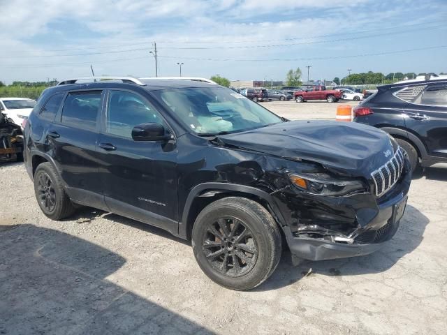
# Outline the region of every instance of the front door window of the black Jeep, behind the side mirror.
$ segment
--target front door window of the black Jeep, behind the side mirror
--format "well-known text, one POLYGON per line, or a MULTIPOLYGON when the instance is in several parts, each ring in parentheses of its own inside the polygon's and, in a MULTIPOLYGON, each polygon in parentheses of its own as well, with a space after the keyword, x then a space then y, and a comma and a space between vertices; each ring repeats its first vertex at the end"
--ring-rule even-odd
POLYGON ((110 91, 105 117, 107 133, 132 138, 133 127, 151 122, 165 124, 145 99, 127 91, 110 91))

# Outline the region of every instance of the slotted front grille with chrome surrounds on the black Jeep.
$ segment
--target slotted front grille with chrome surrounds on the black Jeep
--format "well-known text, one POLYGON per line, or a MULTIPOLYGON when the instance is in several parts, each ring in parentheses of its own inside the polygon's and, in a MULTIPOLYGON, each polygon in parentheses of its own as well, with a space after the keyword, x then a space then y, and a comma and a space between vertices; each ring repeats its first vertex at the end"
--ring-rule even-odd
POLYGON ((374 185, 376 186, 376 195, 378 197, 389 191, 390 188, 396 184, 402 174, 403 168, 404 153, 400 147, 397 147, 393 158, 371 173, 374 185))

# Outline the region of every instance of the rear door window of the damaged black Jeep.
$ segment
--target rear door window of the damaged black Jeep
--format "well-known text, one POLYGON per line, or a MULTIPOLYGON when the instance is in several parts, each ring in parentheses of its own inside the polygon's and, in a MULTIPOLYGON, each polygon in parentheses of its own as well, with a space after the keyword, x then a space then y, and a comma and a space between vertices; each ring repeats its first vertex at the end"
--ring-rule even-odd
POLYGON ((62 124, 94 130, 101 104, 101 91, 70 92, 62 109, 62 124))

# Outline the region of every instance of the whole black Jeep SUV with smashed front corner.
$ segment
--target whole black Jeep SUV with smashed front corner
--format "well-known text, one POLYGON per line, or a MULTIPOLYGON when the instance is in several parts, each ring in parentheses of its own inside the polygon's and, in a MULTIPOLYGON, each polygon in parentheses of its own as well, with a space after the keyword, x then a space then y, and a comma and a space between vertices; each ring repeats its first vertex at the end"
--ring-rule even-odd
POLYGON ((78 204, 192 239, 205 274, 248 290, 291 253, 372 253, 397 230, 411 173, 383 131, 288 121, 216 84, 67 80, 46 89, 24 131, 43 213, 78 204))

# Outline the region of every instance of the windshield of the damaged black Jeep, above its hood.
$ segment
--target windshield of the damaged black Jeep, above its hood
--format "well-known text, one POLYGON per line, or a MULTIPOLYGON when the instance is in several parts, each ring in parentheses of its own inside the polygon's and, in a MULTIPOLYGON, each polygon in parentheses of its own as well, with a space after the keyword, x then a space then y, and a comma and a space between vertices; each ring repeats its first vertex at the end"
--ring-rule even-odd
POLYGON ((237 133, 282 121, 242 94, 223 87, 163 89, 152 93, 199 135, 237 133))

